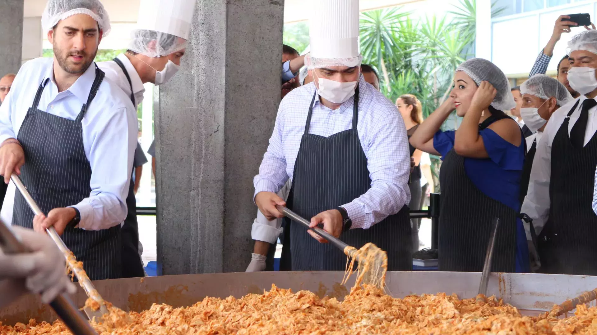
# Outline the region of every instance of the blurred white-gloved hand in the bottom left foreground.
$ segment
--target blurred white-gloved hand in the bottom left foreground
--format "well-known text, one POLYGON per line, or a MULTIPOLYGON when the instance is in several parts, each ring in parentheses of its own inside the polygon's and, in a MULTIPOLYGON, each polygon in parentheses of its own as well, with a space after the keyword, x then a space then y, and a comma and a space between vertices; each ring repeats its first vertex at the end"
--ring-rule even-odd
MULTIPOLYGON (((31 229, 11 227, 31 253, 5 255, 0 252, 0 280, 24 279, 25 287, 41 294, 43 303, 50 303, 59 294, 76 293, 75 284, 66 275, 66 262, 48 235, 31 229)), ((2 293, 0 293, 2 294, 2 293)))

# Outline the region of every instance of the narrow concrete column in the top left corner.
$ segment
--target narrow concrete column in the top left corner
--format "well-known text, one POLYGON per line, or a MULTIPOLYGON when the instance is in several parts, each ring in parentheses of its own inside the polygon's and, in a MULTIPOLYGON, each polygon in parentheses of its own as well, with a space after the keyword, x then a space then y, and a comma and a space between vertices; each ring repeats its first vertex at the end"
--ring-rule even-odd
POLYGON ((21 67, 23 5, 23 0, 0 0, 0 77, 21 67))

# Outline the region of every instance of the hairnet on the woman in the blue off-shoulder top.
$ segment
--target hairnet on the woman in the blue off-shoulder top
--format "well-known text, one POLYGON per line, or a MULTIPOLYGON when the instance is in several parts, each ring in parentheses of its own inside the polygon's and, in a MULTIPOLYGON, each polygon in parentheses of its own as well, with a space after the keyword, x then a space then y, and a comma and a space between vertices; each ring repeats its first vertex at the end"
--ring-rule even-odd
POLYGON ((511 110, 516 107, 514 97, 510 91, 510 82, 496 64, 483 58, 470 58, 470 60, 457 67, 456 72, 458 71, 466 73, 470 79, 475 81, 477 86, 481 85, 483 81, 493 85, 497 90, 497 94, 491 106, 497 110, 511 110))

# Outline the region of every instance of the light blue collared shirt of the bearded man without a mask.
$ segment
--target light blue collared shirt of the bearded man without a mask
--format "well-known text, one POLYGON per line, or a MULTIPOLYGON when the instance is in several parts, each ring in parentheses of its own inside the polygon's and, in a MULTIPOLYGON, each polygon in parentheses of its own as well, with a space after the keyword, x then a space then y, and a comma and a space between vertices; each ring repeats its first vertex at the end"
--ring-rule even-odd
MULTIPOLYGON (((41 95, 38 109, 75 120, 81 111, 96 77, 90 67, 66 91, 58 92, 54 82, 53 58, 36 58, 21 66, 10 95, 0 106, 0 143, 17 138, 19 129, 32 107, 39 84, 50 78, 41 95)), ((96 97, 81 121, 85 156, 91 166, 91 193, 73 207, 81 213, 79 228, 99 230, 120 224, 127 217, 128 187, 137 146, 136 113, 127 97, 115 83, 104 78, 96 97)), ((7 191, 14 190, 14 187, 7 191)), ((14 191, 13 191, 14 194, 14 191)), ((2 206, 2 218, 12 218, 13 197, 2 206), (9 212, 9 213, 6 213, 9 212)))

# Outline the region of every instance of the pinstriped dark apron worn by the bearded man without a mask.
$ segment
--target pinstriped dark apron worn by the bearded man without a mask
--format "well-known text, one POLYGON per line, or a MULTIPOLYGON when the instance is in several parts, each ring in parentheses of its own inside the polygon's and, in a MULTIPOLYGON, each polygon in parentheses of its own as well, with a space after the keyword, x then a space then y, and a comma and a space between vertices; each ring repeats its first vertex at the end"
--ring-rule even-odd
MULTIPOLYGON (((46 215, 50 210, 72 206, 91 193, 91 166, 85 156, 81 121, 96 96, 104 73, 96 66, 96 79, 87 103, 76 120, 65 119, 39 110, 38 104, 46 79, 39 85, 32 107, 27 111, 19 131, 25 153, 21 179, 46 215)), ((13 224, 33 228, 33 212, 17 190, 14 198, 13 224)), ((120 225, 97 231, 66 227, 62 240, 83 262, 91 280, 120 278, 120 225)))

